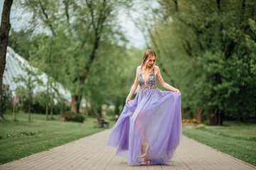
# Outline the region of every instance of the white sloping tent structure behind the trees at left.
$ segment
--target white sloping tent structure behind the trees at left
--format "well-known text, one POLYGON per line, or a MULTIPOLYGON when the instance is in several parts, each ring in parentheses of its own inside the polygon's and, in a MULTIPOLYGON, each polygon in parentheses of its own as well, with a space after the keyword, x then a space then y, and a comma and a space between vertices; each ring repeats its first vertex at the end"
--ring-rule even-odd
MULTIPOLYGON (((31 70, 35 70, 35 72, 38 70, 36 67, 32 67, 29 65, 28 60, 24 59, 20 55, 18 55, 11 47, 7 47, 6 52, 6 69, 4 71, 4 79, 3 84, 8 84, 10 86, 10 89, 13 94, 15 94, 15 89, 17 86, 22 86, 23 84, 16 83, 13 81, 14 77, 18 77, 19 74, 22 74, 23 76, 26 76, 26 72, 24 71, 23 67, 27 67, 31 70)), ((48 81, 48 75, 46 73, 41 74, 39 77, 43 81, 43 84, 46 84, 48 81)), ((60 93, 60 96, 63 96, 68 101, 70 101, 70 91, 67 91, 63 88, 63 86, 59 83, 56 83, 58 86, 58 91, 60 93)), ((36 89, 33 89, 34 92, 37 91, 45 91, 46 87, 44 86, 37 86, 36 89)))

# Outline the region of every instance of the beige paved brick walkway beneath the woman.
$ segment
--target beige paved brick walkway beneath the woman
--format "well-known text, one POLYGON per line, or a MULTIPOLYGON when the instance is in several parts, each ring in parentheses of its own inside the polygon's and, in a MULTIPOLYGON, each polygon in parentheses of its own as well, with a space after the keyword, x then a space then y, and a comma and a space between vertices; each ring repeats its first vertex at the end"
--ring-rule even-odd
POLYGON ((176 157, 172 159, 171 164, 129 166, 127 159, 114 155, 114 147, 107 147, 110 132, 111 129, 105 130, 48 151, 3 164, 0 169, 256 169, 256 166, 218 152, 185 136, 177 147, 176 157))

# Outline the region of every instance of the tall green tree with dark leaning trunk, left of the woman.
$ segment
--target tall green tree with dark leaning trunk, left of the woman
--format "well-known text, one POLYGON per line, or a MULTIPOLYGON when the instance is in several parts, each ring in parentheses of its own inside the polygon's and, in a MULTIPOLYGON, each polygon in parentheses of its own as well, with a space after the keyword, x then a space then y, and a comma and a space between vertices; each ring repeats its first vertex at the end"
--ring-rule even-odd
POLYGON ((124 40, 115 13, 127 4, 127 1, 100 0, 18 1, 16 4, 33 13, 33 24, 50 30, 50 35, 36 35, 30 60, 70 89, 75 113, 79 112, 85 81, 100 54, 100 45, 124 40))

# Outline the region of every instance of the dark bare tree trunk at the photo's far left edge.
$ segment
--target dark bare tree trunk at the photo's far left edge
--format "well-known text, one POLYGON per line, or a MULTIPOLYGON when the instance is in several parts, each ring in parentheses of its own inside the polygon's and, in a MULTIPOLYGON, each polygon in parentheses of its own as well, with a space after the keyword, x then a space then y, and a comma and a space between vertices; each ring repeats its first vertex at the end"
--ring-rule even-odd
POLYGON ((9 39, 10 24, 10 12, 11 4, 13 0, 5 0, 3 12, 1 16, 1 27, 0 27, 0 120, 4 120, 4 115, 1 112, 1 89, 3 84, 4 68, 6 64, 6 49, 9 39))

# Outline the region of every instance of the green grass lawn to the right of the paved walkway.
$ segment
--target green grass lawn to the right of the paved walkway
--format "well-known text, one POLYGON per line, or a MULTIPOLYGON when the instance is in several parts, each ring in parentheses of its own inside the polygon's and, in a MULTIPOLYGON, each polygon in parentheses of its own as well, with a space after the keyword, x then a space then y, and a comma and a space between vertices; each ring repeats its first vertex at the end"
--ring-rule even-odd
POLYGON ((183 124, 183 135, 256 166, 256 123, 224 121, 206 128, 183 124))

